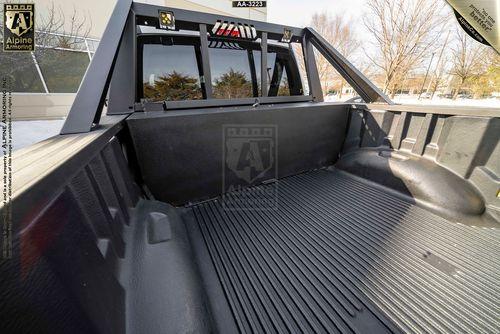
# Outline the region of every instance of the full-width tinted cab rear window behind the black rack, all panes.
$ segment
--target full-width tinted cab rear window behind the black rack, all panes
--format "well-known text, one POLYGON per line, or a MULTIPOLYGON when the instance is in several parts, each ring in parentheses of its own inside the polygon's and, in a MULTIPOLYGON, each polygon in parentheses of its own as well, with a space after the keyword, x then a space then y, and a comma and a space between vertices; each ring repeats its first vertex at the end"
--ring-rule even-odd
MULTIPOLYGON (((139 43, 142 57, 141 97, 150 101, 206 99, 210 84, 214 99, 262 96, 261 51, 258 42, 210 40, 211 82, 205 82, 199 38, 147 36, 139 43)), ((267 96, 303 95, 291 51, 268 46, 267 96)))

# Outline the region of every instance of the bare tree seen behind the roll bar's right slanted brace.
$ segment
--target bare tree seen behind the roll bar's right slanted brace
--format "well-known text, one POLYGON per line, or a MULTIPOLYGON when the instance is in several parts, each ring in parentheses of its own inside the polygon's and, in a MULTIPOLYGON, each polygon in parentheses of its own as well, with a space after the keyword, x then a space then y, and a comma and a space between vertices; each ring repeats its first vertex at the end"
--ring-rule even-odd
MULTIPOLYGON (((332 17, 328 13, 315 13, 311 18, 310 26, 318 31, 321 36, 344 56, 352 55, 361 45, 360 40, 352 29, 354 22, 345 18, 345 16, 336 15, 332 17)), ((340 80, 341 96, 344 80, 319 52, 316 52, 315 56, 323 92, 328 92, 329 83, 337 79, 340 80)))

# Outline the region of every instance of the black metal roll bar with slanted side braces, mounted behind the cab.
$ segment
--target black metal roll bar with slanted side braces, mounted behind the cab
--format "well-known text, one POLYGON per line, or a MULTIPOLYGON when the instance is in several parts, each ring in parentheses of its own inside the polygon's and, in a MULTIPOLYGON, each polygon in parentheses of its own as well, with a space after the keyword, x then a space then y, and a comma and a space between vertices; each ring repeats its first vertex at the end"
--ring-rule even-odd
MULTIPOLYGON (((135 3, 132 0, 118 0, 99 46, 80 84, 61 134, 89 132, 98 127, 107 97, 109 100, 108 115, 134 112, 138 102, 136 95, 138 80, 136 70, 137 26, 157 26, 159 10, 172 11, 178 29, 200 31, 205 82, 211 82, 207 26, 213 25, 217 20, 237 21, 238 23, 253 25, 256 29, 257 36, 261 41, 262 71, 265 71, 267 67, 267 41, 269 39, 280 40, 284 29, 287 29, 293 34, 291 41, 302 44, 311 95, 306 97, 279 97, 279 102, 287 102, 287 99, 290 100, 289 102, 298 100, 323 101, 323 92, 314 57, 313 47, 315 47, 365 102, 392 104, 392 101, 384 93, 312 28, 301 29, 267 22, 135 3)), ((267 75, 261 75, 261 80, 261 87, 267 87, 267 75)), ((206 86, 210 87, 209 84, 206 86)), ((212 94, 209 88, 207 89, 207 105, 213 104, 211 97, 212 94)), ((272 102, 274 98, 267 97, 265 89, 263 89, 261 100, 272 102)), ((254 99, 240 99, 236 101, 236 104, 248 103, 251 105, 253 104, 252 101, 254 99)))

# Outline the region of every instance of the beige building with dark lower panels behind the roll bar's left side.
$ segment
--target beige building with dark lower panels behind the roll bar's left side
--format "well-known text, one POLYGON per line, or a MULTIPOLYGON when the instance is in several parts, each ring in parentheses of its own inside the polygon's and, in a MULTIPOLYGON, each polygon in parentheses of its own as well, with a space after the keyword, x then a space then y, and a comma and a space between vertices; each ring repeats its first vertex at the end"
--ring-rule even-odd
MULTIPOLYGON (((141 2, 259 21, 267 19, 266 8, 232 8, 230 0, 141 2)), ((66 116, 115 3, 113 0, 35 0, 36 29, 47 28, 51 33, 38 32, 40 38, 34 53, 6 54, 0 51, 0 76, 15 78, 14 120, 66 116), (56 19, 48 24, 47 18, 51 14, 56 19)))

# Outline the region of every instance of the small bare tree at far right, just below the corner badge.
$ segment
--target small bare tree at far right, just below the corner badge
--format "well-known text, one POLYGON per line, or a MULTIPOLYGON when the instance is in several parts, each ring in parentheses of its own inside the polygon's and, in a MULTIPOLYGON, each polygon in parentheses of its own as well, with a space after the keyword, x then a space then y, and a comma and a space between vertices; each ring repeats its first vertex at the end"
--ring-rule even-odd
POLYGON ((456 45, 451 52, 451 75, 457 78, 453 99, 456 99, 466 83, 486 71, 488 47, 472 40, 462 28, 457 27, 456 45))

